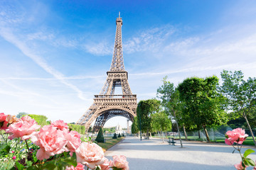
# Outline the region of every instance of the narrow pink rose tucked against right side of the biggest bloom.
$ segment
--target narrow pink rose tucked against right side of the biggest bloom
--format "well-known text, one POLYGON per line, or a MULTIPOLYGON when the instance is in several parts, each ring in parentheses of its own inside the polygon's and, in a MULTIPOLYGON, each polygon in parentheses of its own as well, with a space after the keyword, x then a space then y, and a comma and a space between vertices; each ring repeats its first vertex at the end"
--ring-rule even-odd
POLYGON ((65 135, 65 138, 68 140, 67 147, 70 152, 75 152, 75 150, 78 149, 81 144, 80 134, 76 131, 70 131, 65 135))

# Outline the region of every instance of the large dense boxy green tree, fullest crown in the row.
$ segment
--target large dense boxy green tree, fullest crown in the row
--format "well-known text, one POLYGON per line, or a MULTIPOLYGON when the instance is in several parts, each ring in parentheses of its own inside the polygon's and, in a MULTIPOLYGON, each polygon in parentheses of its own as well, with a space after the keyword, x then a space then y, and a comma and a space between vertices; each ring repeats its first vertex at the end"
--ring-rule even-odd
POLYGON ((184 110, 198 128, 203 127, 208 142, 210 138, 206 127, 223 125, 228 121, 223 108, 225 97, 218 93, 217 86, 218 77, 215 76, 206 79, 192 77, 178 85, 184 110))

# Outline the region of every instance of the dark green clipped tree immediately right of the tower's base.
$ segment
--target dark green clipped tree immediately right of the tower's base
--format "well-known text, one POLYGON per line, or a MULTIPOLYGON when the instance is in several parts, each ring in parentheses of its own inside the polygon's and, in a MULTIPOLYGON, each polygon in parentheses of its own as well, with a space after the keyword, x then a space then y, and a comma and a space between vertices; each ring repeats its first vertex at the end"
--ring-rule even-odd
POLYGON ((149 132, 151 132, 151 115, 159 111, 160 101, 156 99, 149 99, 146 101, 139 101, 137 107, 138 128, 142 132, 146 132, 147 139, 149 139, 149 132))

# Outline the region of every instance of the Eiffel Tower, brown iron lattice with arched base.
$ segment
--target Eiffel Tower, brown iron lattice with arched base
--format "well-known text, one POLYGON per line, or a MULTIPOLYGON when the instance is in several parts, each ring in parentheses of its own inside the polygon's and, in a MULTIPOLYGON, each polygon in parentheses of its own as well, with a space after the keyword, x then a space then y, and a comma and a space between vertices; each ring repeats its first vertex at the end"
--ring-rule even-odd
POLYGON ((85 125, 85 132, 95 120, 92 132, 103 128, 107 120, 115 116, 123 116, 133 122, 137 110, 137 96, 132 94, 128 84, 128 72, 124 70, 122 54, 122 18, 116 20, 117 30, 114 40, 114 53, 107 80, 99 95, 95 95, 92 106, 78 120, 78 125, 85 125), (114 94, 116 87, 122 87, 122 94, 114 94))

